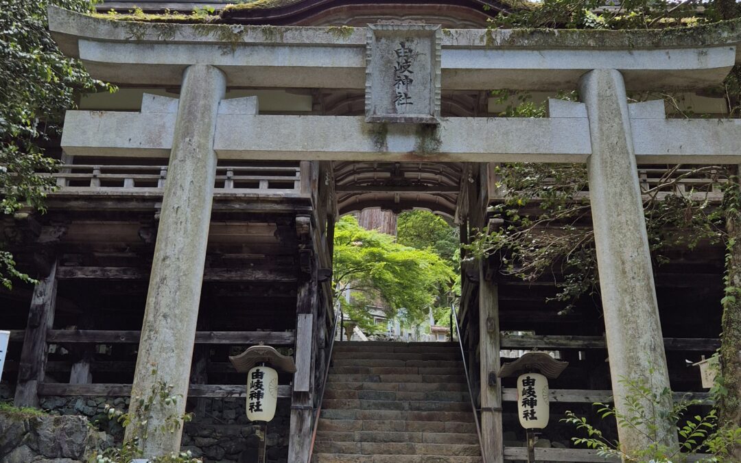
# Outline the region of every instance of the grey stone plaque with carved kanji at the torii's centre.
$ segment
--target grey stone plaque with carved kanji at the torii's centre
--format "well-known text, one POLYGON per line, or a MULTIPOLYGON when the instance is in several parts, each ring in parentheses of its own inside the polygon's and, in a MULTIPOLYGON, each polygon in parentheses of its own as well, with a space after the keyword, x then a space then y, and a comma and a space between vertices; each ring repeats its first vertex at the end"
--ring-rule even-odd
POLYGON ((368 24, 365 120, 438 124, 439 24, 368 24))

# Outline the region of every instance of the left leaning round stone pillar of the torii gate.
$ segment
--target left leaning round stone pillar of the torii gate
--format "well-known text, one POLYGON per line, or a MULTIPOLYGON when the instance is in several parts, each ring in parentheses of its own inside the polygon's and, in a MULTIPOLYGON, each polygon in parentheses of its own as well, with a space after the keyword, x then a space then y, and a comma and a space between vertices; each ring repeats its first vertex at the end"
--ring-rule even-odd
POLYGON ((225 75, 216 67, 193 64, 183 74, 131 390, 129 412, 147 422, 126 428, 126 439, 142 438, 147 458, 180 450, 182 426, 170 433, 162 425, 185 412, 216 178, 213 136, 225 91, 225 75), (160 384, 173 387, 176 405, 158 397, 151 413, 142 411, 137 399, 147 400, 160 384))

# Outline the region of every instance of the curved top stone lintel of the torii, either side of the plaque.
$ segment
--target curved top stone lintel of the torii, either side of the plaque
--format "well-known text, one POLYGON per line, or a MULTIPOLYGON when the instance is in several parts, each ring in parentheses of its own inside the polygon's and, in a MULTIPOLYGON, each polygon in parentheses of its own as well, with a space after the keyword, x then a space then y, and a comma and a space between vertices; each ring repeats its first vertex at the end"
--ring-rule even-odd
MULTIPOLYGON (((136 24, 132 33, 130 23, 54 7, 49 16, 64 53, 82 58, 96 78, 120 84, 176 86, 183 67, 199 62, 225 70, 234 86, 365 87, 363 28, 336 37, 321 27, 276 27, 268 36, 261 27, 236 32, 226 24, 136 24), (236 44, 223 39, 236 33, 236 44), (225 46, 233 52, 221 53, 225 46)), ((736 61, 732 44, 741 41, 739 29, 693 29, 448 30, 442 36, 442 82, 444 90, 562 90, 576 87, 588 70, 611 67, 625 73, 631 90, 720 84, 736 61)))

